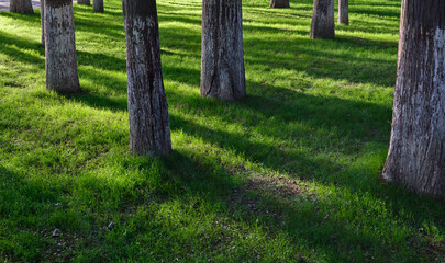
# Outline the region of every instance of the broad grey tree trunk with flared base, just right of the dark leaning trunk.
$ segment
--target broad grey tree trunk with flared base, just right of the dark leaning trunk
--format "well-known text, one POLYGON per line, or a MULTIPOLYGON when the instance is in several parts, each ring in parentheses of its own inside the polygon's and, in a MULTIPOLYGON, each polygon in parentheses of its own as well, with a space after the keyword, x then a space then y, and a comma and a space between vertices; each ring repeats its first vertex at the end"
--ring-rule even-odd
POLYGON ((201 96, 234 101, 246 95, 240 0, 202 1, 201 96))

